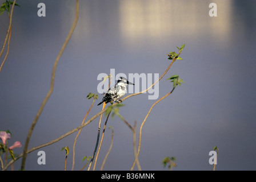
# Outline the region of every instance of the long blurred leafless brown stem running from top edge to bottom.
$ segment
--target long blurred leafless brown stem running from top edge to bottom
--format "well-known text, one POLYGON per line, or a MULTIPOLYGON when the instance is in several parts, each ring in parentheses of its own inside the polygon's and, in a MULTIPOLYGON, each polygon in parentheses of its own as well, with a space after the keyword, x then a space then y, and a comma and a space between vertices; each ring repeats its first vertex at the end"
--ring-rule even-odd
POLYGON ((77 3, 76 3, 76 14, 75 14, 75 20, 74 20, 73 26, 71 27, 69 35, 67 35, 65 43, 63 44, 63 46, 61 48, 61 51, 59 51, 59 54, 58 54, 58 56, 57 56, 57 58, 55 60, 55 63, 54 63, 53 73, 52 73, 52 76, 51 76, 50 90, 47 93, 47 96, 45 97, 45 100, 43 100, 43 104, 41 105, 41 107, 40 107, 40 109, 39 109, 39 111, 38 111, 38 113, 37 113, 37 115, 36 115, 32 125, 31 125, 31 127, 30 127, 29 134, 27 135, 27 139, 26 139, 26 143, 25 143, 25 147, 24 147, 24 151, 23 151, 24 155, 23 155, 23 159, 22 159, 21 170, 25 169, 25 162, 26 162, 26 156, 27 156, 27 147, 29 146, 29 140, 30 140, 32 131, 34 130, 35 124, 37 124, 38 118, 41 115, 42 110, 45 107, 46 102, 48 101, 49 97, 51 96, 51 93, 53 92, 54 79, 55 79, 55 72, 56 72, 57 64, 58 64, 58 61, 59 61, 59 59, 60 59, 64 49, 67 46, 67 43, 69 42, 69 40, 71 38, 71 35, 73 34, 73 32, 75 30, 75 26, 77 25, 77 22, 78 22, 78 15, 79 15, 79 0, 77 0, 77 3))

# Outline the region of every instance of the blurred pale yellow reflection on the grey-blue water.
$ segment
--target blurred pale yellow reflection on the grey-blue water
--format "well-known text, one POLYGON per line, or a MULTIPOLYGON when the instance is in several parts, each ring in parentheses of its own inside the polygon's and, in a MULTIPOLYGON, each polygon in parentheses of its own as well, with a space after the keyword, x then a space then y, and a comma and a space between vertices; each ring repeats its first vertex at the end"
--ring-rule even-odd
POLYGON ((202 30, 219 39, 230 31, 231 1, 218 5, 218 17, 210 18, 208 1, 120 1, 121 35, 127 40, 139 37, 193 36, 202 30))

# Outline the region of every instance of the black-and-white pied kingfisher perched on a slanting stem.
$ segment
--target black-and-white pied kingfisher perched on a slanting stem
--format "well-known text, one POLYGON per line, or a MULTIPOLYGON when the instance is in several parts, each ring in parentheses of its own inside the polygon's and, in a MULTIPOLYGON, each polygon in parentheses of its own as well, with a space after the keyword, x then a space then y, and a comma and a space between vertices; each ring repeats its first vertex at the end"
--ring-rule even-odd
POLYGON ((127 81, 126 78, 120 77, 117 81, 117 84, 111 86, 111 88, 107 90, 106 95, 102 98, 102 101, 98 105, 101 105, 103 102, 107 104, 111 101, 121 101, 120 98, 125 96, 125 92, 127 90, 126 85, 128 84, 134 85, 133 83, 127 81))

